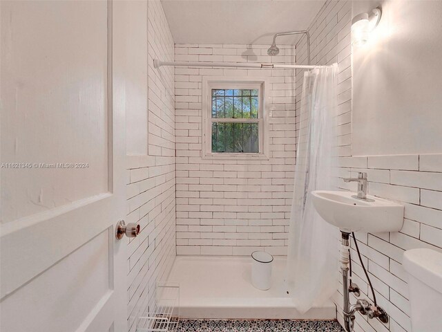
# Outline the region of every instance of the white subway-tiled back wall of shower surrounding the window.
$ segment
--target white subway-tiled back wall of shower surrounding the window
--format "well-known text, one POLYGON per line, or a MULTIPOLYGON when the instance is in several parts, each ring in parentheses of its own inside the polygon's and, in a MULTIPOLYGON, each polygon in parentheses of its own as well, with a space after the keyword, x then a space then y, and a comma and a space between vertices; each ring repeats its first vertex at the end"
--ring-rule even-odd
MULTIPOLYGON (((176 61, 294 62, 293 46, 175 45, 176 61)), ((293 70, 175 68, 177 254, 285 255, 295 163, 293 70), (268 160, 202 158, 202 77, 266 76, 271 84, 268 160)))

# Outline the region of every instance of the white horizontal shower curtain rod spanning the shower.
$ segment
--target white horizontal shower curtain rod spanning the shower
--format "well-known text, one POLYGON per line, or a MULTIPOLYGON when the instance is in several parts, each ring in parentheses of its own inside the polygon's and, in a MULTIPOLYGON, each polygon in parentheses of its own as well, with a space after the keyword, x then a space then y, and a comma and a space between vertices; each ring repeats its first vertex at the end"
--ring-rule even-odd
POLYGON ((189 66, 189 67, 228 67, 228 68, 262 68, 262 69, 274 69, 274 68, 291 68, 291 69, 314 69, 325 66, 311 66, 303 64, 260 64, 260 63, 247 63, 238 64, 234 62, 176 62, 176 61, 160 61, 158 59, 153 60, 153 66, 160 68, 162 66, 189 66))

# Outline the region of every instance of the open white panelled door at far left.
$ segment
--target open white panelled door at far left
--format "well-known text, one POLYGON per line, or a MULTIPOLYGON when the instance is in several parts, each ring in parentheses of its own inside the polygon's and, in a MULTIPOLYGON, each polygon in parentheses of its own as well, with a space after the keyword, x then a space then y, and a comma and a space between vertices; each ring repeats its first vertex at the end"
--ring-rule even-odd
POLYGON ((126 331, 112 3, 0 1, 0 14, 0 330, 126 331))

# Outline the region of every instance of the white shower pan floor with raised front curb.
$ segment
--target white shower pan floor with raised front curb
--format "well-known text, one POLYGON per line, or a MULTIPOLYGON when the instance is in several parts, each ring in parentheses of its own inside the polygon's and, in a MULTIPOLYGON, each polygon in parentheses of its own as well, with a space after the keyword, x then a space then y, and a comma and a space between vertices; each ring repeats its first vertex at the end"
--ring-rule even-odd
POLYGON ((285 257, 273 261, 272 286, 251 285, 251 257, 177 256, 168 282, 180 284, 180 317, 333 320, 332 301, 301 314, 283 287, 285 257))

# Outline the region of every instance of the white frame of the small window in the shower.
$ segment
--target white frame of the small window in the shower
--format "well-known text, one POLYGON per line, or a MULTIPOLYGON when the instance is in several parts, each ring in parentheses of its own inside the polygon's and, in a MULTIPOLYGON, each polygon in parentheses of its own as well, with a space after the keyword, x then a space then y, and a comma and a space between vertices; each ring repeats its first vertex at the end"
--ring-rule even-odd
POLYGON ((269 159, 269 83, 266 78, 257 77, 209 77, 202 79, 202 158, 224 160, 269 159), (258 118, 230 119, 212 118, 212 89, 258 89, 258 118), (258 123, 258 153, 212 152, 213 122, 256 122, 258 123))

